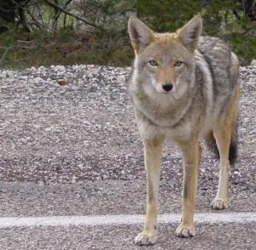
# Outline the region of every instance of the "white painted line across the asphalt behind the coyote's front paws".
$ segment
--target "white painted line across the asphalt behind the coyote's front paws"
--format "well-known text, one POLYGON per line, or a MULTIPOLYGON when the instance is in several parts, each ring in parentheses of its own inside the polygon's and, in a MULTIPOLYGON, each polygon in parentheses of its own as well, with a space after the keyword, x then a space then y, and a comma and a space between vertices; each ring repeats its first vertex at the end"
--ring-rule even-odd
MULTIPOLYGON (((178 223, 177 213, 160 214, 159 223, 178 223)), ((1 217, 0 228, 16 226, 69 226, 106 224, 143 224, 143 215, 53 216, 53 217, 1 217)), ((195 223, 249 223, 256 222, 256 213, 195 213, 195 223)))

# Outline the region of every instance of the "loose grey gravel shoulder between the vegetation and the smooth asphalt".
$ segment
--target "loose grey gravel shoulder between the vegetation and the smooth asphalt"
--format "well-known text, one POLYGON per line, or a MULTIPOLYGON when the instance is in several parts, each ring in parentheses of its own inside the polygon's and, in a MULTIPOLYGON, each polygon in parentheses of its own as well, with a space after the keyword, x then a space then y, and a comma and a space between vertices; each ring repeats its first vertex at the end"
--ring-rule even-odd
MULTIPOLYGON (((0 70, 0 179, 44 184, 144 179, 126 83, 130 71, 96 65, 0 70)), ((241 67, 239 158, 230 171, 235 193, 256 190, 255 88, 256 68, 241 67)), ((177 149, 166 145, 161 179, 169 189, 181 189, 181 164, 177 149)), ((207 193, 217 182, 218 162, 207 152, 199 188, 207 193)))

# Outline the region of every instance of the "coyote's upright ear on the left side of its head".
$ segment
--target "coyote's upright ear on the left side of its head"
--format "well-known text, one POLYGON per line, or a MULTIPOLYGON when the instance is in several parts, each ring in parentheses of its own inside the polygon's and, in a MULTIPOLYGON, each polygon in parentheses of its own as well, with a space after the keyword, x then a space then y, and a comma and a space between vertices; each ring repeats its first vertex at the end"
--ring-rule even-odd
POLYGON ((140 54, 153 40, 153 31, 137 17, 131 16, 128 21, 131 45, 136 54, 140 54))

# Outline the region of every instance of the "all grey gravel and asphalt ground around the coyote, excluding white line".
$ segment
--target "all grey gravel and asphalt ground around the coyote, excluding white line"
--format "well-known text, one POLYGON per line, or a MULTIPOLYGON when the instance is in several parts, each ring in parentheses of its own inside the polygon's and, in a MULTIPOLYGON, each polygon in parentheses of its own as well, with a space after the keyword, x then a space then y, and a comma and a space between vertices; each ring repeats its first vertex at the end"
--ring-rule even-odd
MULTIPOLYGON (((0 219, 143 214, 143 148, 127 93, 129 68, 94 65, 0 70, 0 219), (60 85, 59 81, 67 81, 60 85)), ((230 207, 214 212, 218 161, 205 151, 197 213, 256 212, 256 68, 241 68, 239 158, 230 169, 230 207)), ((166 145, 159 213, 180 213, 182 161, 166 145)), ((146 249, 143 224, 1 227, 0 249, 146 249)), ((256 249, 256 223, 197 223, 193 239, 159 225, 147 249, 256 249)))

